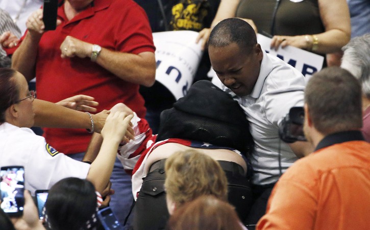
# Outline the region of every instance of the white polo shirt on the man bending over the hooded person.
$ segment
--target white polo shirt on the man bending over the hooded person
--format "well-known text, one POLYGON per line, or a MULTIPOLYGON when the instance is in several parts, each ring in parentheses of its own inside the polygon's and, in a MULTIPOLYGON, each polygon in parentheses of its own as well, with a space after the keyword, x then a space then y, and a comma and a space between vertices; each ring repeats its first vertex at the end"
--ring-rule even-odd
POLYGON ((305 77, 291 65, 263 51, 261 70, 252 93, 236 96, 217 77, 212 82, 230 93, 245 111, 254 139, 253 183, 267 185, 279 179, 279 151, 284 172, 297 157, 279 138, 278 125, 294 106, 303 106, 305 77), (280 150, 279 150, 280 146, 280 150))

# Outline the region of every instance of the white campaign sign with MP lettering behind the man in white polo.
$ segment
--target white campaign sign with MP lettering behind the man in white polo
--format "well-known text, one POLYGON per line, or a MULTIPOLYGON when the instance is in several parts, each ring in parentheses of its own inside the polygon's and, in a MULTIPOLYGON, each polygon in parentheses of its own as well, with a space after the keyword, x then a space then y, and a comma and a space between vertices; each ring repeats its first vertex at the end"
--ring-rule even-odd
POLYGON ((297 70, 306 77, 306 81, 312 76, 312 74, 320 71, 323 67, 323 56, 301 50, 296 47, 291 47, 290 45, 284 49, 279 48, 277 51, 270 50, 271 38, 261 34, 257 35, 257 41, 266 53, 278 56, 280 59, 297 68, 297 70))

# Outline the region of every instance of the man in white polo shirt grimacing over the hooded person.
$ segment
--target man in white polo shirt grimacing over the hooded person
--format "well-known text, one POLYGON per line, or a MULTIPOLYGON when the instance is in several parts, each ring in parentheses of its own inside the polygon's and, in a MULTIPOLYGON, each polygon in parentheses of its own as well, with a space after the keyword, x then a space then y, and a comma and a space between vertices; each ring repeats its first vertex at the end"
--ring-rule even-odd
POLYGON ((244 109, 254 139, 251 156, 255 203, 248 224, 264 214, 268 196, 280 175, 298 157, 312 151, 307 142, 282 143, 279 124, 293 106, 303 106, 304 76, 266 54, 252 27, 238 18, 225 19, 212 30, 209 56, 217 74, 213 83, 229 92, 244 109))

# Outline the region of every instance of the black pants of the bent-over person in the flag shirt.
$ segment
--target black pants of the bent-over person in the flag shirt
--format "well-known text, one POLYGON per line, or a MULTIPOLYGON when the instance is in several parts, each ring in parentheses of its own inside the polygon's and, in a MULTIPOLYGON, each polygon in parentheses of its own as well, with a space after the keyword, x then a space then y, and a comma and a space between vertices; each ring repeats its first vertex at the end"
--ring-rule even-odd
MULTIPOLYGON (((252 204, 252 191, 249 180, 242 175, 242 168, 233 162, 218 161, 224 169, 228 179, 229 202, 241 220, 244 220, 252 204)), ((156 162, 157 169, 144 178, 139 196, 134 206, 133 227, 138 230, 164 229, 169 218, 164 191, 164 163, 165 159, 156 162)), ((154 165, 153 164, 153 165, 154 165)))

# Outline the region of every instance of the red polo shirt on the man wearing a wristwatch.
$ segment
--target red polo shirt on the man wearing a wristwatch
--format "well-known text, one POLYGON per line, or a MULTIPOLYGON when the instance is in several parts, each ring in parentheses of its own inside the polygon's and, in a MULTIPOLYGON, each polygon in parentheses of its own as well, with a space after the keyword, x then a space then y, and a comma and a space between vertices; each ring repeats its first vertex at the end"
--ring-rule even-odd
MULTIPOLYGON (((145 12, 131 0, 95 0, 92 7, 67 20, 63 5, 58 9, 62 24, 43 34, 36 61, 39 99, 58 102, 84 94, 99 102, 98 111, 123 102, 139 117, 145 116, 139 85, 119 79, 90 58, 60 57, 67 35, 122 53, 154 52, 152 31, 145 12)), ((45 128, 44 136, 66 154, 84 152, 91 134, 80 129, 45 128)))

